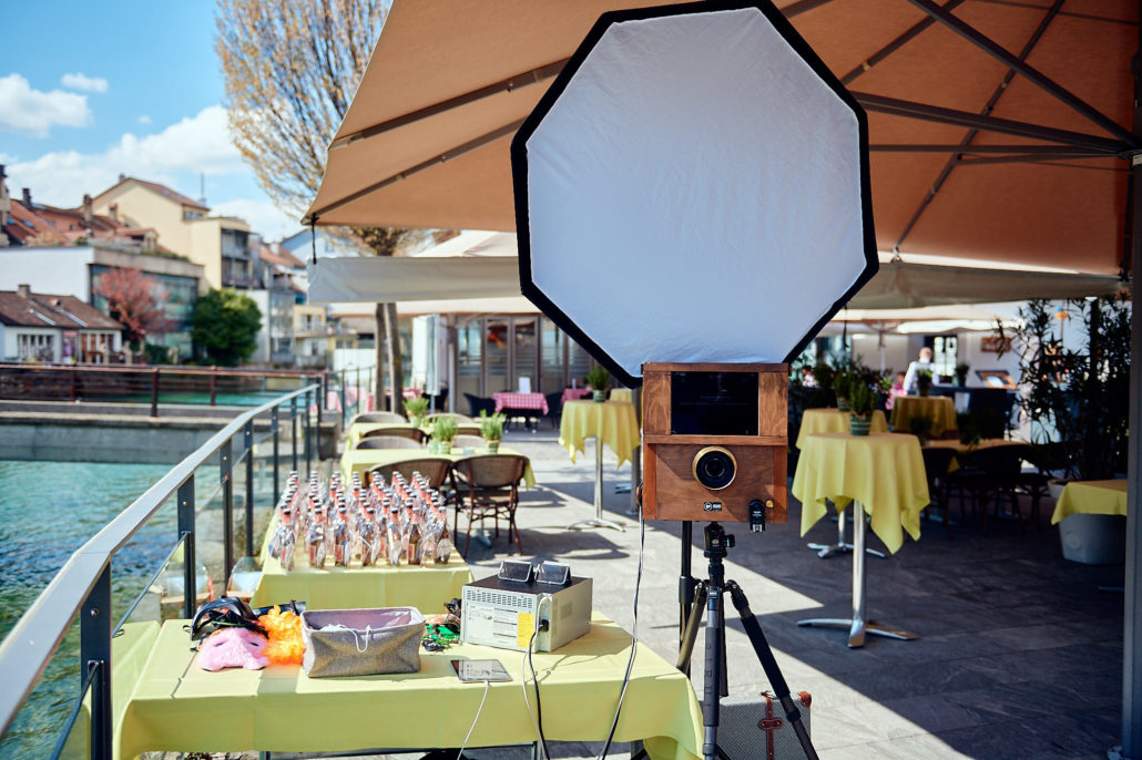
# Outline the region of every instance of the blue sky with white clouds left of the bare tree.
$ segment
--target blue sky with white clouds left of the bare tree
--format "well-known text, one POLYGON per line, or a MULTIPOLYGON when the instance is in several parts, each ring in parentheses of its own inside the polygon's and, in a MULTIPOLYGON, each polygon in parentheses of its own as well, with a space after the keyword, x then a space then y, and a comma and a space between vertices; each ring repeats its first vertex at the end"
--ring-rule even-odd
POLYGON ((120 173, 243 217, 267 240, 299 228, 258 187, 226 132, 214 2, 9 3, 2 11, 0 163, 8 187, 79 205, 120 173))

